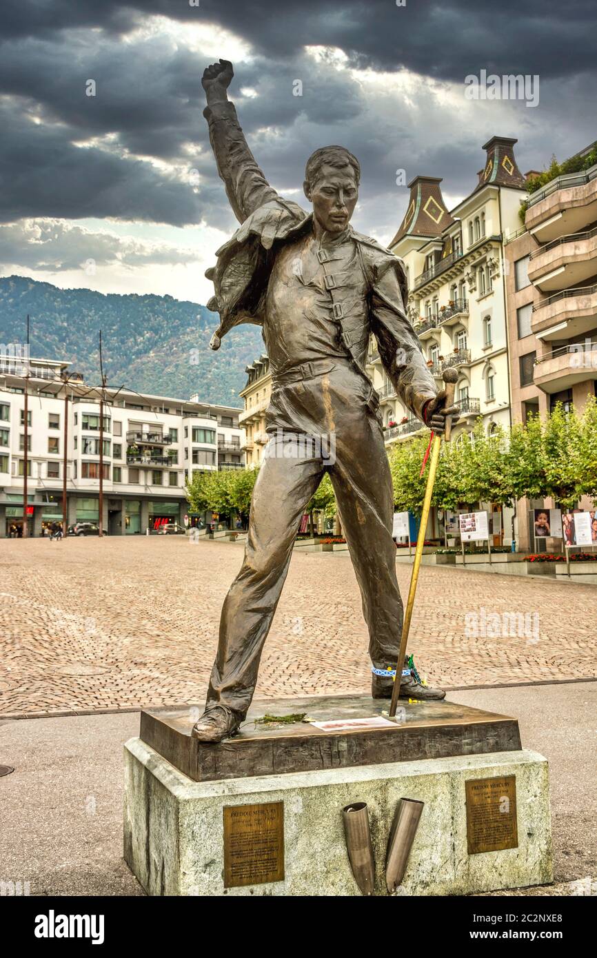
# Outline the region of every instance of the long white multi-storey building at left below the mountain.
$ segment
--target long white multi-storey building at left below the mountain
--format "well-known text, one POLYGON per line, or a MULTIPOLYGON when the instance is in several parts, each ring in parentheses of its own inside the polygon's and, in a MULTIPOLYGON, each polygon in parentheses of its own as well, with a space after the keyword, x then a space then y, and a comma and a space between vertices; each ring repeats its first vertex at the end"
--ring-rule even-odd
MULTIPOLYGON (((31 359, 23 366, 0 357, 0 536, 22 527, 26 386, 30 535, 61 519, 65 442, 67 522, 99 520, 101 391, 71 374, 69 365, 31 359)), ((229 458, 235 455, 240 461, 239 409, 126 388, 106 388, 104 398, 103 529, 109 535, 182 524, 186 477, 195 469, 235 468, 229 458)))

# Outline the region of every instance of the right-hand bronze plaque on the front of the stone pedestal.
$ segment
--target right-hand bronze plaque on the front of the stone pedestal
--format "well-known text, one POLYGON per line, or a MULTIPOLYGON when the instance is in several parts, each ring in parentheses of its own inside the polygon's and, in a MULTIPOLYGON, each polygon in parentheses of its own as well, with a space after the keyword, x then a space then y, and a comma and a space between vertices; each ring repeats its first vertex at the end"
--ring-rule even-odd
POLYGON ((469 855, 517 848, 516 775, 471 779, 465 786, 469 855))

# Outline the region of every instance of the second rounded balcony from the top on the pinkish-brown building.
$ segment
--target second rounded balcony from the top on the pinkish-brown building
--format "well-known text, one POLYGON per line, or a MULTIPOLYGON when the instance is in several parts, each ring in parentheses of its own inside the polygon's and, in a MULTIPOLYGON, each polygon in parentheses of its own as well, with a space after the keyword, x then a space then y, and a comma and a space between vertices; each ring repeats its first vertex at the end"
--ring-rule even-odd
POLYGON ((552 239, 530 257, 528 276, 541 290, 563 289, 597 273, 597 227, 552 239))

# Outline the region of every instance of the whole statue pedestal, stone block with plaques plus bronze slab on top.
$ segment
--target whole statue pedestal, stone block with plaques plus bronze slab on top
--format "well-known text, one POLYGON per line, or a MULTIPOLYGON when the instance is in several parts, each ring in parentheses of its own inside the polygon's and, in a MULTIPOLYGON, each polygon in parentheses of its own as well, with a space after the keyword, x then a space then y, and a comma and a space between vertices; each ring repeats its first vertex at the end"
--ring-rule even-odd
POLYGON ((255 702, 240 735, 219 744, 191 738, 199 709, 145 711, 141 737, 125 747, 127 864, 149 895, 358 895, 341 812, 365 802, 375 893, 385 895, 388 836, 409 798, 425 808, 401 894, 551 881, 547 763, 521 749, 517 720, 401 702, 390 723, 388 704, 255 702), (305 713, 333 727, 264 724, 265 713, 305 713))

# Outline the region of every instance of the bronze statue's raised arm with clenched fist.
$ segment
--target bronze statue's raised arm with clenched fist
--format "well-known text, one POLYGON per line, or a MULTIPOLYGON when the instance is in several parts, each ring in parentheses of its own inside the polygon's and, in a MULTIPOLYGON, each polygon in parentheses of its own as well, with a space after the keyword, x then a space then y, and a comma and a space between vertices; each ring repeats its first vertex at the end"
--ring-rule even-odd
POLYGON ((226 195, 241 222, 277 193, 264 177, 248 148, 234 103, 226 89, 234 76, 232 63, 220 59, 203 71, 201 84, 207 97, 203 116, 209 124, 209 137, 224 181, 226 195))

